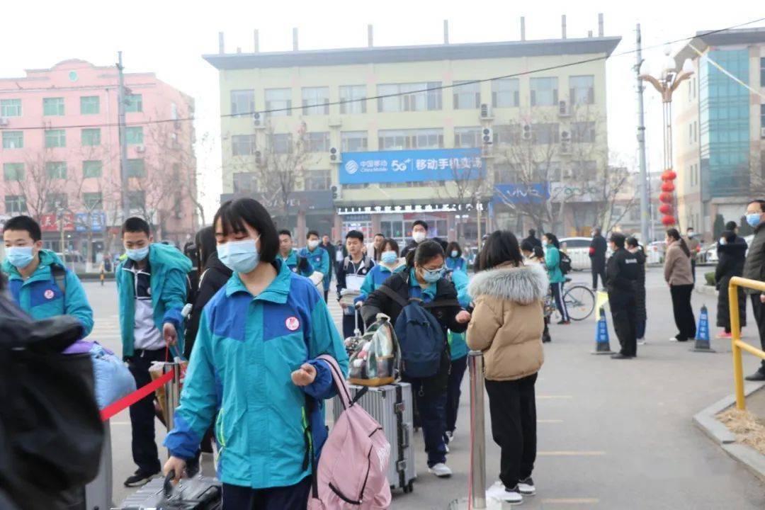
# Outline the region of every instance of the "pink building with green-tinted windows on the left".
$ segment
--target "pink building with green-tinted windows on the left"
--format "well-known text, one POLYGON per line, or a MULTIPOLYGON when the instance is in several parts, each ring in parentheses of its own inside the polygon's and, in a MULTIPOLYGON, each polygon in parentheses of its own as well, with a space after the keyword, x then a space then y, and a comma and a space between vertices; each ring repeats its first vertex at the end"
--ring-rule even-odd
MULTIPOLYGON (((119 250, 117 83, 116 67, 84 60, 0 79, 0 210, 34 216, 47 248, 90 261, 119 250)), ((194 99, 154 73, 125 73, 125 88, 131 214, 182 244, 197 228, 194 99)))

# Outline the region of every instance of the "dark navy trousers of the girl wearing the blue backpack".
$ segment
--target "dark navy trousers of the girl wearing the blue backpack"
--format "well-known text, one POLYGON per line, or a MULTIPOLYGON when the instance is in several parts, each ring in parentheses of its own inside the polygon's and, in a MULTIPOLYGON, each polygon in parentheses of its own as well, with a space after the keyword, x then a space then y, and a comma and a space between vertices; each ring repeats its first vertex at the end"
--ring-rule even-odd
POLYGON ((446 391, 424 391, 425 379, 403 378, 412 384, 412 397, 417 402, 425 439, 425 453, 428 453, 428 467, 446 462, 444 432, 446 428, 446 391))

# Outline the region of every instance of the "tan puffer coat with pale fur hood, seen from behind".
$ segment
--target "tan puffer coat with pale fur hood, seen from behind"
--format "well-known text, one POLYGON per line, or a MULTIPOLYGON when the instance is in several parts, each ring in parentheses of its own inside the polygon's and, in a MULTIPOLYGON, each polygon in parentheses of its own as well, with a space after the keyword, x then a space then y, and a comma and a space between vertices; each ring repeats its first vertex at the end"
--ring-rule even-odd
POLYGON ((513 381, 539 372, 544 362, 542 300, 548 287, 539 264, 500 265, 470 281, 475 308, 467 345, 483 351, 487 379, 513 381))

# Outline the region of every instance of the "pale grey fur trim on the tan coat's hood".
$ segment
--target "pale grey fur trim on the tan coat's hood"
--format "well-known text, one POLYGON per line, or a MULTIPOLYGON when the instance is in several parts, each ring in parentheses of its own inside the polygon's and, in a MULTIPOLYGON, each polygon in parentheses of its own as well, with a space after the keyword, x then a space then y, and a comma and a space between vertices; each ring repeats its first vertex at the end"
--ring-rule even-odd
POLYGON ((520 304, 532 304, 545 299, 549 285, 544 268, 539 264, 529 264, 481 271, 470 281, 468 291, 474 299, 486 294, 520 304))

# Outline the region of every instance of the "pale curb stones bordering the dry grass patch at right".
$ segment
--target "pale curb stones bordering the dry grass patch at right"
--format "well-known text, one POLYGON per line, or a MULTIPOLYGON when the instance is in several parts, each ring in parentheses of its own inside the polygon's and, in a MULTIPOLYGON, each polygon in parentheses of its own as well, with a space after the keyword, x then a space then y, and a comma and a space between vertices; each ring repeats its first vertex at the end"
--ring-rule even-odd
MULTIPOLYGON (((744 385, 744 395, 749 396, 760 388, 765 387, 765 383, 748 383, 744 385)), ((708 408, 696 413, 693 422, 708 437, 715 440, 716 443, 733 457, 734 460, 744 464, 755 476, 765 482, 765 455, 757 452, 754 448, 747 447, 744 444, 736 443, 736 436, 728 430, 724 424, 717 419, 717 415, 736 403, 735 395, 721 398, 721 400, 711 404, 708 408)))

